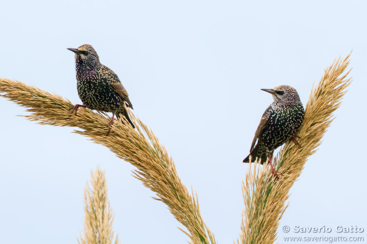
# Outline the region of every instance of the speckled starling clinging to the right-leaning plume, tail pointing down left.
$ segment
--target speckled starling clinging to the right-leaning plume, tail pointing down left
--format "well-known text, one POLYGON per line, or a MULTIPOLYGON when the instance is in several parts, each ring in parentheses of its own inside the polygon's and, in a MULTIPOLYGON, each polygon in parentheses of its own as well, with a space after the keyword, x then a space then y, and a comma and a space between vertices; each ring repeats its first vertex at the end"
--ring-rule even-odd
MULTIPOLYGON (((261 89, 273 95, 274 102, 265 110, 252 140, 250 154, 243 163, 261 159, 261 164, 267 158, 273 174, 277 173, 272 164, 274 150, 292 139, 299 145, 296 137, 304 118, 303 105, 295 88, 280 85, 274 89, 261 89), (257 143, 256 143, 257 140, 257 143), (256 143, 256 145, 255 145, 256 143)), ((300 145, 299 145, 300 146, 300 145)))

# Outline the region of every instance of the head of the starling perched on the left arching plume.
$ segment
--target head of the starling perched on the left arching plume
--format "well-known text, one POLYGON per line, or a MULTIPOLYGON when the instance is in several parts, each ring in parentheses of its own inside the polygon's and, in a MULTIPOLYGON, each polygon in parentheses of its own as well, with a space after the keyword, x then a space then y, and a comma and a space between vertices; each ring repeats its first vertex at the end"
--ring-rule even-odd
POLYGON ((87 66, 99 66, 99 57, 92 45, 84 44, 78 48, 68 48, 68 50, 75 53, 76 64, 83 64, 87 66))

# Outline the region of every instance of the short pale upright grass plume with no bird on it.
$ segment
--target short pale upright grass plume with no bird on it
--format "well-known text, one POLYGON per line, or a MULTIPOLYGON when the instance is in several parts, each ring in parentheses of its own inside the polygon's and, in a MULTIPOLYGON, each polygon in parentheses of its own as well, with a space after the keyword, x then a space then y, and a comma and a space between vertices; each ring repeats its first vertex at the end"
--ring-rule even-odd
MULTIPOLYGON (((80 236, 80 244, 112 244, 114 231, 112 224, 115 215, 112 213, 110 202, 107 199, 107 185, 105 172, 97 168, 92 174, 92 189, 87 182, 84 190, 84 236, 80 236)), ((115 244, 119 244, 118 234, 115 244)))

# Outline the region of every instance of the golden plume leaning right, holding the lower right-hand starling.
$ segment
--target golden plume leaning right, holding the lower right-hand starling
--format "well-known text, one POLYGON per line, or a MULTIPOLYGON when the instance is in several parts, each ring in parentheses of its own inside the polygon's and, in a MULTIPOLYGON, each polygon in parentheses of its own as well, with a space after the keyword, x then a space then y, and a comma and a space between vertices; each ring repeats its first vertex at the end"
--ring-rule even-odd
POLYGON ((311 92, 298 132, 298 142, 302 148, 294 142, 287 142, 273 160, 277 170, 283 173, 280 180, 274 180, 269 175, 267 166, 259 171, 256 170, 259 167, 256 162, 250 164, 246 183, 242 183, 245 210, 238 244, 275 242, 279 220, 288 206, 284 206, 284 203, 289 197, 289 189, 299 177, 307 158, 321 144, 322 136, 334 119, 332 113, 340 106, 351 82, 350 78, 347 79, 350 70, 345 72, 349 56, 343 61, 340 58, 334 61, 311 92))

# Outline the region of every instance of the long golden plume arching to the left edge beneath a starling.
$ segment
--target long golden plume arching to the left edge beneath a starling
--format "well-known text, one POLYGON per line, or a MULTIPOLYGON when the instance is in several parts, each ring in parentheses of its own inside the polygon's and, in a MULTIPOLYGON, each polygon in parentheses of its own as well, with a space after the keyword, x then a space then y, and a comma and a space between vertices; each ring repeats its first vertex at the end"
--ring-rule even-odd
POLYGON ((215 244, 214 235, 203 221, 198 197, 189 193, 181 182, 175 164, 164 146, 153 132, 130 111, 137 129, 124 120, 116 121, 113 133, 105 136, 110 117, 90 109, 79 109, 77 116, 69 117, 69 100, 57 94, 50 94, 35 86, 19 81, 0 78, 0 96, 21 106, 31 114, 25 116, 31 121, 54 126, 79 127, 75 131, 93 142, 102 144, 117 157, 133 164, 137 169, 134 176, 156 193, 156 200, 165 203, 174 217, 184 225, 193 244, 215 244))

